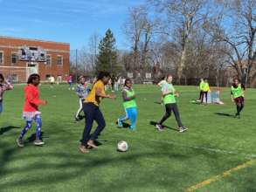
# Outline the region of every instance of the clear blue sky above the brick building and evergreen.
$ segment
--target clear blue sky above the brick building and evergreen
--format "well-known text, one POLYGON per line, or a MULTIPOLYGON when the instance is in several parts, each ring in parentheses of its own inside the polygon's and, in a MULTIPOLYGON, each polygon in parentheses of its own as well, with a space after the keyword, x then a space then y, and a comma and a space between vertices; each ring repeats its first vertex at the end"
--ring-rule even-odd
POLYGON ((0 0, 0 35, 39 38, 87 45, 94 33, 114 32, 117 47, 125 49, 121 30, 128 7, 144 0, 0 0))

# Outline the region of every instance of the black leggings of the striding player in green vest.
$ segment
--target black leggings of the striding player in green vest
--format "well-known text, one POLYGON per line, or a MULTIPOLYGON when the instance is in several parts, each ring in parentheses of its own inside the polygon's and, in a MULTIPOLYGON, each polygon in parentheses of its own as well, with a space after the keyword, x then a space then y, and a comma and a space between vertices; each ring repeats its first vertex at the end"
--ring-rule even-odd
POLYGON ((183 127, 183 123, 180 119, 180 114, 178 112, 176 103, 166 104, 165 111, 166 111, 166 113, 163 115, 162 120, 160 120, 160 122, 159 122, 160 125, 162 125, 165 120, 170 118, 171 111, 173 111, 178 127, 183 127))

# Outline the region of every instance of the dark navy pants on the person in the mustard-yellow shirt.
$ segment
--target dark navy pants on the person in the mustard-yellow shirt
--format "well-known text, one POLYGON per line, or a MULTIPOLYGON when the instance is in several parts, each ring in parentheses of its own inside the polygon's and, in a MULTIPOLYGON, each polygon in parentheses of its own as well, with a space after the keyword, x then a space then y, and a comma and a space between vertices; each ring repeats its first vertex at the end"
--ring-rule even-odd
POLYGON ((94 141, 100 134, 100 132, 106 126, 104 117, 100 112, 99 106, 95 106, 93 103, 84 103, 83 111, 86 116, 86 125, 84 129, 84 133, 82 135, 81 144, 86 146, 87 141, 94 141), (95 129, 94 133, 91 135, 91 130, 93 127, 93 120, 98 123, 98 127, 95 129))

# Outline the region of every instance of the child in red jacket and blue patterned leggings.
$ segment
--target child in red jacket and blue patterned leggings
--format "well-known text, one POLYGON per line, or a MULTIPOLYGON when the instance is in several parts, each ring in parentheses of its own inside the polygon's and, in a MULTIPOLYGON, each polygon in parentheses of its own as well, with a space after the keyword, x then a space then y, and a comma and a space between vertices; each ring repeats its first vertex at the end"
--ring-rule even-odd
POLYGON ((36 140, 34 144, 36 146, 44 145, 44 141, 41 140, 41 127, 42 120, 40 118, 40 112, 38 111, 38 106, 44 106, 47 104, 46 100, 39 99, 38 85, 40 84, 40 76, 38 74, 31 74, 28 79, 27 86, 24 87, 24 108, 23 117, 25 120, 25 127, 21 131, 17 138, 18 147, 24 147, 23 137, 26 132, 31 129, 32 122, 35 121, 37 124, 36 128, 36 140))

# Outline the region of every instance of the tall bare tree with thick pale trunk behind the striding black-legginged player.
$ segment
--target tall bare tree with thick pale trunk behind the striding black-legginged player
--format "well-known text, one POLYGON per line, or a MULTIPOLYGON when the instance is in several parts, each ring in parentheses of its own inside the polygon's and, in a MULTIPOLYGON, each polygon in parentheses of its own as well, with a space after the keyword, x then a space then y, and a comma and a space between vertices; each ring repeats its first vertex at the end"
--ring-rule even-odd
POLYGON ((149 0, 154 3, 157 10, 166 12, 167 14, 167 28, 166 34, 173 34, 170 31, 176 31, 179 36, 179 43, 181 45, 180 60, 177 65, 177 78, 180 83, 183 68, 185 67, 188 43, 190 36, 196 24, 204 23, 205 17, 209 14, 207 9, 207 0, 149 0))

